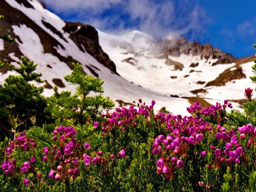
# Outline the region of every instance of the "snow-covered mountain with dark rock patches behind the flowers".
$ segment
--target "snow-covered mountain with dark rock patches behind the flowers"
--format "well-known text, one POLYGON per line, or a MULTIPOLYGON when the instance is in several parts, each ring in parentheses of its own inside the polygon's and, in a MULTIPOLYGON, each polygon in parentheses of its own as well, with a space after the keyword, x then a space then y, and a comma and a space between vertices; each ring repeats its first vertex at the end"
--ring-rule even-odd
MULTIPOLYGON (((38 63, 45 81, 44 94, 52 86, 74 91, 63 76, 71 62, 80 62, 88 74, 104 80, 104 94, 118 105, 156 101, 174 114, 188 114, 195 99, 215 104, 232 100, 235 109, 246 87, 254 87, 251 57, 234 58, 209 43, 189 42, 182 37, 155 40, 140 31, 117 36, 82 23, 64 22, 37 0, 1 0, 1 33, 15 41, 0 39, 0 59, 14 64, 25 56, 38 63)), ((10 74, 1 69, 0 81, 10 74)))

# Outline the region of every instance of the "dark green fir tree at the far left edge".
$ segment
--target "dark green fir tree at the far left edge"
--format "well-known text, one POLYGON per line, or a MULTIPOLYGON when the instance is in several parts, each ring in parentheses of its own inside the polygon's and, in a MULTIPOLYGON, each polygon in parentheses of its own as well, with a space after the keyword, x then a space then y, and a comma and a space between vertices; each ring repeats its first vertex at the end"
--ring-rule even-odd
POLYGON ((46 100, 41 95, 43 87, 32 83, 43 82, 41 74, 34 72, 37 64, 26 58, 21 58, 18 68, 6 64, 18 75, 9 75, 0 85, 0 125, 6 132, 12 129, 15 136, 16 128, 20 125, 24 129, 32 124, 41 124, 46 100))

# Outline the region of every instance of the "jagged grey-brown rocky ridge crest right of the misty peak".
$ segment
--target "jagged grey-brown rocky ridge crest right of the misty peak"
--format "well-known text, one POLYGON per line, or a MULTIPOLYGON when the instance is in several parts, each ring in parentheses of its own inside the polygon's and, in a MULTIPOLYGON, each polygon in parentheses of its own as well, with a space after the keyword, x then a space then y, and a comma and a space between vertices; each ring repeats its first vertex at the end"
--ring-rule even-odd
POLYGON ((213 48, 210 43, 203 45, 197 40, 189 42, 183 37, 158 40, 152 48, 152 53, 156 55, 162 54, 165 55, 165 57, 167 57, 167 55, 179 56, 183 53, 186 55, 201 55, 201 58, 205 59, 216 58, 217 61, 212 63, 212 65, 231 63, 235 60, 230 53, 222 53, 219 48, 213 48))

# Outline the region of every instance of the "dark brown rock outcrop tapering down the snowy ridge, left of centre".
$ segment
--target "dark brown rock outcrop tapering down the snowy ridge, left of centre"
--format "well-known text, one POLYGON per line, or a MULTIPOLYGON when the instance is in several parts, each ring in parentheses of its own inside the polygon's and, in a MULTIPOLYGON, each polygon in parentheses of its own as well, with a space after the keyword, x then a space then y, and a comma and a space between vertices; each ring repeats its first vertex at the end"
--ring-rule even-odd
POLYGON ((113 61, 110 60, 108 55, 101 49, 98 43, 98 33, 93 26, 79 22, 66 22, 63 30, 70 33, 69 37, 81 51, 87 51, 98 62, 117 74, 113 61))

